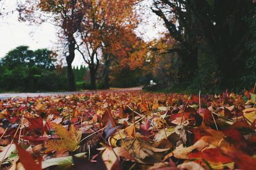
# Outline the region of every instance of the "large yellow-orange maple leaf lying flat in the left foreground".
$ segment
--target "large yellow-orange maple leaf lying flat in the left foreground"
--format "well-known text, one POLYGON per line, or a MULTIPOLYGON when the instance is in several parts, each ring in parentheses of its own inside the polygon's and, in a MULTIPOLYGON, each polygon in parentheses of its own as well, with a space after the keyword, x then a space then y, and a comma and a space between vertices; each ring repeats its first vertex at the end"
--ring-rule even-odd
POLYGON ((74 125, 70 126, 69 131, 62 125, 56 123, 51 123, 51 125, 55 128, 55 132, 60 139, 47 141, 47 144, 45 145, 47 147, 47 150, 45 150, 46 153, 52 150, 76 151, 80 147, 79 142, 81 140, 82 132, 76 130, 74 125))

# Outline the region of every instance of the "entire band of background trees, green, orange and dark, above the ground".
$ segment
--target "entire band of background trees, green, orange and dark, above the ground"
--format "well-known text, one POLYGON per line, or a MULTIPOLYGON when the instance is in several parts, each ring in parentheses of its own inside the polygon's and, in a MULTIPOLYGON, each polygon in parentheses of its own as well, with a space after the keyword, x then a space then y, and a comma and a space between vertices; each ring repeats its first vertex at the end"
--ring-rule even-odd
POLYGON ((211 93, 241 91, 256 82, 252 0, 26 0, 17 9, 22 21, 58 26, 62 47, 56 53, 26 46, 8 52, 1 59, 1 88, 10 84, 4 90, 17 89, 15 79, 27 80, 22 85, 26 91, 126 88, 153 80, 156 89, 211 93), (148 6, 141 10, 143 2, 148 6), (146 41, 138 33, 143 10, 166 27, 155 40, 146 41), (65 57, 66 65, 57 66, 57 54, 65 57), (86 66, 72 68, 77 54, 86 66), (45 85, 42 80, 55 79, 50 75, 61 84, 45 85))

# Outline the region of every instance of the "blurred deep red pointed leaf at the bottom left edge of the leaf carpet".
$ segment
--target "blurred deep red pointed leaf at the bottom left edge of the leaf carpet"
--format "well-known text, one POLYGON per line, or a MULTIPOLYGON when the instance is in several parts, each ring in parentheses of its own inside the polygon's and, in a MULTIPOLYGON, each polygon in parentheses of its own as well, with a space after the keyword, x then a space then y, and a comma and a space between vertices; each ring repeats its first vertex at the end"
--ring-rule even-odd
POLYGON ((19 144, 15 144, 17 150, 19 151, 19 159, 21 164, 26 170, 40 170, 42 169, 42 158, 38 158, 38 164, 36 164, 34 158, 24 150, 19 144))

